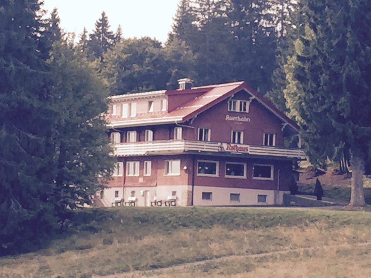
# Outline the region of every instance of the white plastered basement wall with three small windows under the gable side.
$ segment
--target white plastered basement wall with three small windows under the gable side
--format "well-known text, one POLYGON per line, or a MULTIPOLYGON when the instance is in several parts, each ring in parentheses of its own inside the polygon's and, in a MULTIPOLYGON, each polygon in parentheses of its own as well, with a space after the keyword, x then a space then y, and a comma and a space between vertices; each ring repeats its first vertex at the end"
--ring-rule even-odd
POLYGON ((193 204, 195 206, 278 205, 283 202, 283 193, 285 192, 263 189, 194 186, 193 204), (203 200, 202 192, 212 192, 212 200, 203 200), (230 201, 231 193, 240 194, 240 201, 230 201), (266 202, 258 202, 257 195, 266 195, 266 202))

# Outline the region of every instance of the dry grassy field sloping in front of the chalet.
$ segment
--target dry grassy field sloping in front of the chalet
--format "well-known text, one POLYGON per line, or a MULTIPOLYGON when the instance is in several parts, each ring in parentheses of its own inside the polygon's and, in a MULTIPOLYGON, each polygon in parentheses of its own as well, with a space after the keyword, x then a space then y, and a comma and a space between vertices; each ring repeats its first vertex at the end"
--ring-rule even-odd
POLYGON ((367 277, 370 225, 365 211, 85 209, 47 248, 1 258, 0 277, 367 277))

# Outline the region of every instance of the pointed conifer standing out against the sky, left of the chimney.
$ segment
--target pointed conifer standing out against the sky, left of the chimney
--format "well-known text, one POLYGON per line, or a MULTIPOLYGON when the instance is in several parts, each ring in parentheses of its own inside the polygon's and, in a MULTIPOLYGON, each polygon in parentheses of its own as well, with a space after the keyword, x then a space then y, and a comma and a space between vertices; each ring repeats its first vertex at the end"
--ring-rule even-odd
POLYGON ((94 58, 103 60, 103 54, 114 47, 115 35, 109 27, 106 13, 102 11, 101 18, 95 22, 95 30, 89 36, 89 51, 94 58))

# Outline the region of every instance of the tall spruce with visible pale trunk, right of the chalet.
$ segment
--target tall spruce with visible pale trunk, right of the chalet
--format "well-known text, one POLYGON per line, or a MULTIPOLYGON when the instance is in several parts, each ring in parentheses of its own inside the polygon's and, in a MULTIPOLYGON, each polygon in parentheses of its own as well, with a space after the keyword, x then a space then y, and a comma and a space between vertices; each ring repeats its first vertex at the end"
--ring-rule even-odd
POLYGON ((300 38, 285 66, 285 96, 313 163, 351 153, 350 205, 365 204, 371 147, 370 1, 303 0, 300 38))

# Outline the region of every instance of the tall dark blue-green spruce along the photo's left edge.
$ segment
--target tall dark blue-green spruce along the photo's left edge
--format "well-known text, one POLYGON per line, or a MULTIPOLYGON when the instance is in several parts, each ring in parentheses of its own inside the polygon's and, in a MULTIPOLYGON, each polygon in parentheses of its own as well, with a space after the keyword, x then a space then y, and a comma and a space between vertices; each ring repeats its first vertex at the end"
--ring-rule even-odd
POLYGON ((50 41, 38 0, 0 2, 0 255, 29 251, 56 223, 50 41))

